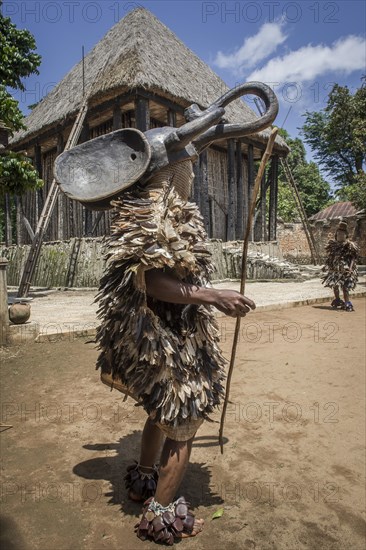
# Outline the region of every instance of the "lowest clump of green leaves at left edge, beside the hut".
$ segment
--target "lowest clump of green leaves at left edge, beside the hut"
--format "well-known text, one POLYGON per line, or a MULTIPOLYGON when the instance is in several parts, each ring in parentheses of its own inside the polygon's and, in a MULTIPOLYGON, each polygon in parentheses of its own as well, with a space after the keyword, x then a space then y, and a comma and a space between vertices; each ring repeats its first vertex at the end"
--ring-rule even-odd
POLYGON ((27 157, 12 151, 0 156, 0 195, 21 195, 42 185, 43 181, 39 179, 37 170, 27 157))

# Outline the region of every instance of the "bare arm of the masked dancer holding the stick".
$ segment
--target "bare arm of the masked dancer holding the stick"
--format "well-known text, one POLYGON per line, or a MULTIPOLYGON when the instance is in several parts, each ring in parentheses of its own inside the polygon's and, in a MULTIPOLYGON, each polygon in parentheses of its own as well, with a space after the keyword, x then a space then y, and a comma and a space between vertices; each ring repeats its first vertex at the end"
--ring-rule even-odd
POLYGON ((183 283, 160 269, 149 269, 145 273, 148 296, 173 304, 212 305, 218 310, 237 317, 244 316, 255 303, 236 290, 218 290, 183 283))

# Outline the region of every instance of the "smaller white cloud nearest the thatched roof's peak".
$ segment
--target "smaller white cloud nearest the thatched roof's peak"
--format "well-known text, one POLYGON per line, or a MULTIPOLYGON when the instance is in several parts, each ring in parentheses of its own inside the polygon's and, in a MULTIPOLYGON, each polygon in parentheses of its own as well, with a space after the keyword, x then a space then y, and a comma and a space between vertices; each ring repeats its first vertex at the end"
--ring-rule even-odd
POLYGON ((222 69, 243 72, 271 55, 287 36, 282 32, 282 22, 265 23, 257 34, 244 40, 244 44, 232 54, 218 52, 214 63, 222 69))

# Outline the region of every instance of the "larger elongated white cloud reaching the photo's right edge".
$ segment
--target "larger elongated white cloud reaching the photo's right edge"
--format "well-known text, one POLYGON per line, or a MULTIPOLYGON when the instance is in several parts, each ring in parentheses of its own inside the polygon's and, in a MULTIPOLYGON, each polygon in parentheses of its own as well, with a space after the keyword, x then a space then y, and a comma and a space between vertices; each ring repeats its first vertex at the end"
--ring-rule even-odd
POLYGON ((350 74, 365 70, 366 42, 360 36, 346 36, 331 46, 311 44, 282 57, 275 57, 248 80, 261 82, 306 82, 331 72, 350 74))

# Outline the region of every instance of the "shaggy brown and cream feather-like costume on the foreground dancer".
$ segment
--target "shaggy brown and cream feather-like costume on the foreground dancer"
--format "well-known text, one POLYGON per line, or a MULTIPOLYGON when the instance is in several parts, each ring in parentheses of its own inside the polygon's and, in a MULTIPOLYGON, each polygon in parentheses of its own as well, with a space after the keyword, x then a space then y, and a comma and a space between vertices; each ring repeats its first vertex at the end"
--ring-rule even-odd
POLYGON ((173 187, 154 183, 124 193, 113 206, 96 297, 102 319, 96 368, 119 378, 156 422, 210 420, 224 393, 226 364, 211 308, 154 300, 144 278, 145 270, 158 268, 207 286, 212 267, 202 216, 173 187))

